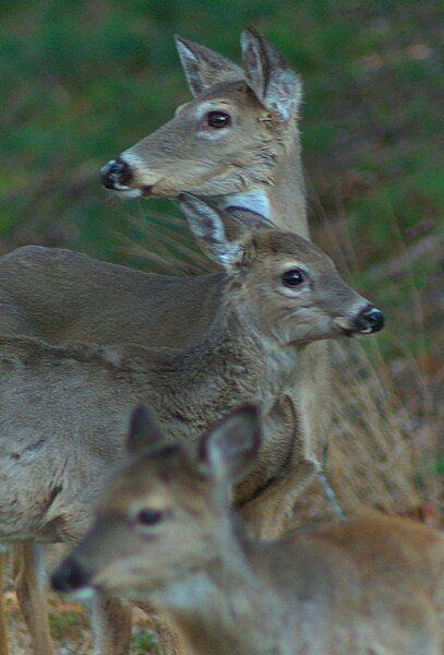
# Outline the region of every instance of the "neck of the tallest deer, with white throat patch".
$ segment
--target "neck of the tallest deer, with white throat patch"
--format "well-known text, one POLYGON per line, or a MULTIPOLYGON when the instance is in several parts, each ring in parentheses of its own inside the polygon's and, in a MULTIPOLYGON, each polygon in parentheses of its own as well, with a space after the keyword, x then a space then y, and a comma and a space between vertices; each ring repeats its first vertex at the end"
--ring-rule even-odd
POLYGON ((266 179, 260 177, 253 189, 224 195, 216 199, 215 204, 229 213, 256 214, 279 229, 308 237, 305 186, 296 121, 276 144, 275 162, 267 172, 266 179))

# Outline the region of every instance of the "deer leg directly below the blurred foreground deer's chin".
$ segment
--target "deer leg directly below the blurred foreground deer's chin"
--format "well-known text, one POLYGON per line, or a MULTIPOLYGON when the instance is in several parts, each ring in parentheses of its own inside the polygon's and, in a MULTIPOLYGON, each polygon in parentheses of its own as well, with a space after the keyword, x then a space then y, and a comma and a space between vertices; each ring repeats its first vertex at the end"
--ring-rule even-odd
POLYGON ((128 655, 132 610, 117 597, 98 594, 92 604, 94 655, 128 655))

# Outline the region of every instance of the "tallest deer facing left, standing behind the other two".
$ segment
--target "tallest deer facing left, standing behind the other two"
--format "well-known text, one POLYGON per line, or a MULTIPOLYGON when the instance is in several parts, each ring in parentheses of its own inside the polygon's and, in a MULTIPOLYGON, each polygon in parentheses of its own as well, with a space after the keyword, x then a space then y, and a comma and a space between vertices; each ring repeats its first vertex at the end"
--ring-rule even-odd
MULTIPOLYGON (((192 191, 225 210, 225 227, 233 238, 274 226, 308 237, 298 128, 300 78, 251 28, 241 37, 242 66, 181 37, 176 45, 192 100, 106 164, 104 186, 121 198, 176 199, 192 191)), ((26 246, 0 258, 0 334, 56 345, 81 341, 191 346, 213 321, 221 285, 220 272, 177 279, 64 249, 26 246)), ((295 432, 303 434, 300 460, 315 464, 320 476, 331 431, 326 344, 304 348, 299 374, 303 382, 298 384, 295 432)), ((26 580, 35 577, 37 555, 37 548, 20 548, 25 561, 17 563, 17 584, 25 598, 29 587, 36 591, 26 580)), ((44 608, 41 595, 34 605, 34 614, 44 608)), ((36 622, 41 626, 43 616, 36 622)))

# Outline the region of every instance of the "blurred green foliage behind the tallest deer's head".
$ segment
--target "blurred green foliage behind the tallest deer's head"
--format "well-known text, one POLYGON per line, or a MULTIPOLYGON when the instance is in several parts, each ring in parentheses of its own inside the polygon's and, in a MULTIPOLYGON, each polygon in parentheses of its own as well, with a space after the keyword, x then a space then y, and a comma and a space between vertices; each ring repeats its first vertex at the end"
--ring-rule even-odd
POLYGON ((411 0, 3 0, 0 4, 0 248, 38 242, 137 263, 129 217, 99 166, 189 97, 172 35, 239 57, 252 24, 303 76, 312 224, 345 215, 362 264, 434 229, 439 3, 411 0), (363 237, 363 238, 362 238, 363 237))

